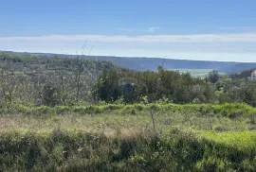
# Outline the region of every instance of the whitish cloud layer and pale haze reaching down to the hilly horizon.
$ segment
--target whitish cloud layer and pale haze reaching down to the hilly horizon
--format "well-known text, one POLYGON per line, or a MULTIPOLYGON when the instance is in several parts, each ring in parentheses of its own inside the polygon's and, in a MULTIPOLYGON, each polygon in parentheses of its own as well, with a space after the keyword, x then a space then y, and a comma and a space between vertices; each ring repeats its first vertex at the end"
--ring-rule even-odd
POLYGON ((0 37, 0 50, 193 60, 256 60, 256 32, 198 35, 46 35, 0 37))

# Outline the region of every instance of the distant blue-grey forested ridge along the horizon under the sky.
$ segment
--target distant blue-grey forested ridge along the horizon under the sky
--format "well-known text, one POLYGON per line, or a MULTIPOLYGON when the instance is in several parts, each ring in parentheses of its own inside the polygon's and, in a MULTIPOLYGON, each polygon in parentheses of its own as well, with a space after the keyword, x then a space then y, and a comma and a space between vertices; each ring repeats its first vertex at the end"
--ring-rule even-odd
MULTIPOLYGON (((46 53, 17 53, 11 54, 27 54, 40 57, 53 58, 56 54, 46 53)), ((63 55, 64 57, 75 58, 73 55, 63 55)), ((60 57, 60 55, 58 55, 60 57)), ((132 70, 152 70, 155 71, 159 65, 164 65, 165 69, 217 69, 223 73, 242 72, 247 69, 256 67, 256 62, 234 62, 234 61, 209 61, 209 60, 174 60, 174 59, 159 59, 159 58, 125 58, 125 57, 110 57, 110 56, 89 56, 87 59, 109 60, 119 66, 132 70)))

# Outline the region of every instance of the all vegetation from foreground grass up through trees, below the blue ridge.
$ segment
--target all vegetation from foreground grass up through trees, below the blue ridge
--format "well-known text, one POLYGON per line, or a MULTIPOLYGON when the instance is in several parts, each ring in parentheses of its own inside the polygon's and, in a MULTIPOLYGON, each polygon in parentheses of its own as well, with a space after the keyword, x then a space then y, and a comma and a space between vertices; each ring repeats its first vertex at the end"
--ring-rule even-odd
POLYGON ((136 72, 86 56, 0 60, 0 171, 256 169, 246 78, 136 72))

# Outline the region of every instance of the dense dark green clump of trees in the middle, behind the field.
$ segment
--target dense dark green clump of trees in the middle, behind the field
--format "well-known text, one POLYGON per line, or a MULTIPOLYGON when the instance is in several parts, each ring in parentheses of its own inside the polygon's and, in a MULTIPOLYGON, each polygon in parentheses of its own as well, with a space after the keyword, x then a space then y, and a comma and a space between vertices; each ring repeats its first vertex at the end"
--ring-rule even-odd
POLYGON ((169 99, 174 103, 190 103, 195 99, 197 102, 210 102, 214 95, 209 85, 200 78, 166 70, 134 72, 132 78, 136 83, 127 83, 134 84, 133 91, 127 95, 119 85, 119 80, 126 78, 125 74, 125 71, 105 70, 93 88, 94 97, 99 95, 101 100, 107 102, 122 97, 124 102, 135 103, 145 101, 143 97, 147 97, 148 102, 169 99))

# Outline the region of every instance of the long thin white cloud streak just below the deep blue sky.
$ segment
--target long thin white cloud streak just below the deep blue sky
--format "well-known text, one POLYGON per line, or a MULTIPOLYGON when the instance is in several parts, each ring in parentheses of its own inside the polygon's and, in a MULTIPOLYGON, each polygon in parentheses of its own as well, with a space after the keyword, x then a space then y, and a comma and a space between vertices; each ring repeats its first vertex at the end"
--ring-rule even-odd
POLYGON ((46 35, 39 37, 0 37, 0 43, 13 42, 75 42, 92 43, 256 43, 256 32, 198 35, 46 35))

